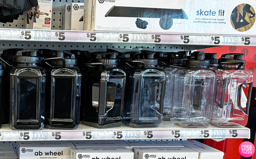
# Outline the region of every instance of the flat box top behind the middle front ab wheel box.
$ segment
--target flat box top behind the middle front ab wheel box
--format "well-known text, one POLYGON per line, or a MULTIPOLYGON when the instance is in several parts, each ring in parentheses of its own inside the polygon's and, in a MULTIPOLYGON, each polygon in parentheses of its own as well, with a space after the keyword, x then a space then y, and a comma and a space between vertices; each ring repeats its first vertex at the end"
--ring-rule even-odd
POLYGON ((75 147, 126 147, 130 146, 122 140, 91 140, 91 141, 72 141, 75 147))

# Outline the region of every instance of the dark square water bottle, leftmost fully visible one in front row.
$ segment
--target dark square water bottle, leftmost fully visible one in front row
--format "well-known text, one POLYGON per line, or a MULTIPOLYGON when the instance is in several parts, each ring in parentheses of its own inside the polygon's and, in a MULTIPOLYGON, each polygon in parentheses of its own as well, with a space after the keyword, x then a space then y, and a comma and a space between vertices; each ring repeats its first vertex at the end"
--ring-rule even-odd
POLYGON ((10 127, 40 130, 44 126, 45 70, 38 50, 22 50, 10 69, 10 127), (25 53, 22 56, 22 53, 25 53))

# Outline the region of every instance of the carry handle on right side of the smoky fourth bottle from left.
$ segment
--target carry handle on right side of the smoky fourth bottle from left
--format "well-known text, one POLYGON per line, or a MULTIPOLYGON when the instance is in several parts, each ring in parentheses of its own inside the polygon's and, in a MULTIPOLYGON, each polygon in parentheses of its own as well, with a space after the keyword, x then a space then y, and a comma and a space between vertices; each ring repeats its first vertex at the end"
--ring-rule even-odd
MULTIPOLYGON (((166 84, 166 81, 162 81, 161 82, 161 94, 158 95, 158 96, 160 96, 159 109, 155 106, 157 99, 155 99, 156 95, 154 93, 155 92, 154 89, 156 88, 156 86, 153 86, 153 90, 152 90, 152 97, 153 98, 150 98, 153 101, 154 109, 156 109, 156 111, 159 112, 160 114, 163 114, 163 103, 164 103, 163 99, 164 99, 164 93, 165 93, 165 89, 164 89, 165 88, 165 84, 166 84)), ((159 85, 159 83, 155 83, 153 85, 159 85)))

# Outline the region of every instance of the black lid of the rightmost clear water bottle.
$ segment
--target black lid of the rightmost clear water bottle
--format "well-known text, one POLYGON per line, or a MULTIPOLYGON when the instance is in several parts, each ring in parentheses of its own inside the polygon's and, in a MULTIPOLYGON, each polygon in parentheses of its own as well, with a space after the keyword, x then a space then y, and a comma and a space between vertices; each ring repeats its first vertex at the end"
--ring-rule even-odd
MULTIPOLYGON (((244 62, 244 64, 242 66, 246 66, 246 61, 242 60, 243 55, 244 54, 238 54, 238 53, 223 54, 223 55, 221 55, 221 57, 219 59, 219 63, 221 63, 221 62, 244 62), (234 57, 232 58, 231 55, 234 55, 234 57)), ((234 64, 230 63, 230 65, 234 65, 234 64)))

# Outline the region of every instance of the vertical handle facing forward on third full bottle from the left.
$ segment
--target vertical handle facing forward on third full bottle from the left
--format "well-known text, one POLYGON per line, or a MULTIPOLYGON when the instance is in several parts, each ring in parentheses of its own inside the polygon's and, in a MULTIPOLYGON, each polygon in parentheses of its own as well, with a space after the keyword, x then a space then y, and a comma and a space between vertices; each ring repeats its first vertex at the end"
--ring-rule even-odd
POLYGON ((100 79, 100 92, 99 92, 99 115, 104 116, 106 114, 107 105, 107 81, 106 79, 100 79))

